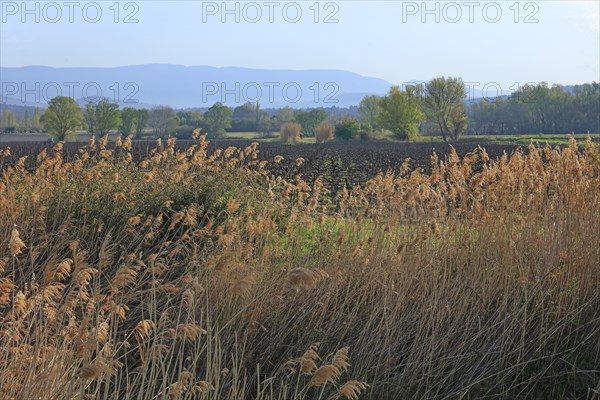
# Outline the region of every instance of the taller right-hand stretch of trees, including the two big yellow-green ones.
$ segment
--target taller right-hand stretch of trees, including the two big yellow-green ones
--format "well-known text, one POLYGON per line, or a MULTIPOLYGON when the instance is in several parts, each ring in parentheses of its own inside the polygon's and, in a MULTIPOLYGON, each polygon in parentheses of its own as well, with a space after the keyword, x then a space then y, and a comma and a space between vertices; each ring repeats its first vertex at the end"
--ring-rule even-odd
POLYGON ((600 84, 574 87, 526 85, 507 97, 467 101, 460 78, 436 78, 425 85, 394 87, 388 96, 367 96, 359 121, 388 129, 399 139, 468 135, 598 133, 600 84))

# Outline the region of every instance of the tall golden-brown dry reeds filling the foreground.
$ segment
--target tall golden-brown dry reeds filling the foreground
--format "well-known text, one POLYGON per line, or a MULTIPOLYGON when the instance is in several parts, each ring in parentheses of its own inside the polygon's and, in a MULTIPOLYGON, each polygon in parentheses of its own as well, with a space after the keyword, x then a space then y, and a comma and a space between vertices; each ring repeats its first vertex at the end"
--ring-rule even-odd
POLYGON ((591 142, 335 198, 256 145, 130 151, 0 151, 0 398, 597 396, 591 142))

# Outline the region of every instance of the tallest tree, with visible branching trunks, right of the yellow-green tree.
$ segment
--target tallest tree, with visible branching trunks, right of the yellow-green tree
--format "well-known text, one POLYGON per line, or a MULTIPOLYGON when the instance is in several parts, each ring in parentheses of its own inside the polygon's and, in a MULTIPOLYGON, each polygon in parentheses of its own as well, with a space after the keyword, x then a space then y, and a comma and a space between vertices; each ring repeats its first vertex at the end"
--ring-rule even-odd
POLYGON ((467 91, 463 80, 435 78, 425 85, 425 91, 426 113, 437 124, 444 141, 458 139, 467 129, 467 91))

